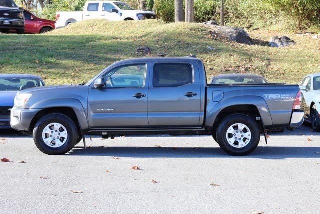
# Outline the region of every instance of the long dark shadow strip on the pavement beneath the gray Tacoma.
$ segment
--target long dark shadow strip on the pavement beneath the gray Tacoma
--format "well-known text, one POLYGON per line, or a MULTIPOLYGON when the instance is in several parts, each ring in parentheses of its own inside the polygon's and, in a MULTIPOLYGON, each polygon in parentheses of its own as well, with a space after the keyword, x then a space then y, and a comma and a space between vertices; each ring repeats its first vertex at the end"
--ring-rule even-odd
POLYGON ((109 156, 138 158, 260 158, 281 160, 286 158, 320 158, 320 147, 258 146, 247 156, 231 156, 218 147, 74 147, 66 155, 109 156))

